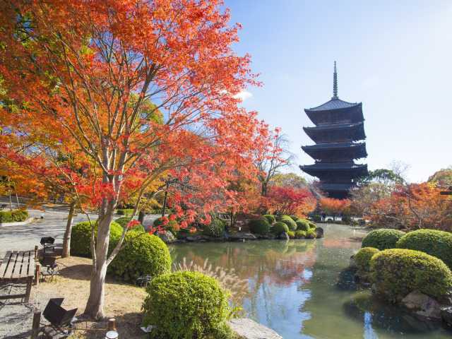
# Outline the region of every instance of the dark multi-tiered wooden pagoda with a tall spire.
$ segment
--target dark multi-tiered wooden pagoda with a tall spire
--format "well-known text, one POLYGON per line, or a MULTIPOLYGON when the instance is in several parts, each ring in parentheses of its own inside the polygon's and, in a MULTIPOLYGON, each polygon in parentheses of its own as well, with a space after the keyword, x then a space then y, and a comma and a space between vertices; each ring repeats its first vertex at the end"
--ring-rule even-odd
POLYGON ((332 198, 346 198, 355 180, 367 174, 367 165, 355 159, 367 157, 364 139, 362 103, 338 97, 338 73, 334 63, 333 97, 318 107, 304 109, 316 125, 303 127, 316 144, 302 146, 314 158, 314 165, 300 166, 302 171, 320 179, 320 189, 332 198))

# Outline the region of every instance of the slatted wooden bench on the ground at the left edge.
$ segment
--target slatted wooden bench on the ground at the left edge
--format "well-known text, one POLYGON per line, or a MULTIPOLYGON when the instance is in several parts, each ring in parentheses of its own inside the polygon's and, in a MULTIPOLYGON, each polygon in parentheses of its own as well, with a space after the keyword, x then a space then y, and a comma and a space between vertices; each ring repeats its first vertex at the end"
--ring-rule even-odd
POLYGON ((30 300, 30 291, 36 273, 35 250, 7 251, 0 265, 0 285, 2 287, 26 284, 25 293, 21 295, 0 295, 1 299, 30 300))

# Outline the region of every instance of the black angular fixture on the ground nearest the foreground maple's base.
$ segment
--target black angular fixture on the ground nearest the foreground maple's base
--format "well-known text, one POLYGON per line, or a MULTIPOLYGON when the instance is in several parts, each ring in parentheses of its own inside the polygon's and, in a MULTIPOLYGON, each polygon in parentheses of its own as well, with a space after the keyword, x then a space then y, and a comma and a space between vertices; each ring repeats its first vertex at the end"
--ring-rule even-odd
POLYGON ((50 327, 57 331, 64 338, 71 334, 73 328, 72 319, 76 315, 77 309, 70 309, 69 311, 61 307, 64 298, 49 299, 47 306, 42 312, 44 319, 49 321, 50 327))

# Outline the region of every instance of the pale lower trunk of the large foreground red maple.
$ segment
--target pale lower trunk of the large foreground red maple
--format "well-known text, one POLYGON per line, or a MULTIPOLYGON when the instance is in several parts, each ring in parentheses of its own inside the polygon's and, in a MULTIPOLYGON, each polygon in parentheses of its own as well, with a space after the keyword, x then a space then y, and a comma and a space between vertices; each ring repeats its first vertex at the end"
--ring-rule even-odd
POLYGON ((100 213, 97 225, 96 265, 93 265, 90 281, 90 297, 85 307, 85 314, 94 319, 104 317, 105 275, 107 274, 107 256, 110 236, 110 222, 113 219, 115 201, 109 201, 105 213, 100 213))

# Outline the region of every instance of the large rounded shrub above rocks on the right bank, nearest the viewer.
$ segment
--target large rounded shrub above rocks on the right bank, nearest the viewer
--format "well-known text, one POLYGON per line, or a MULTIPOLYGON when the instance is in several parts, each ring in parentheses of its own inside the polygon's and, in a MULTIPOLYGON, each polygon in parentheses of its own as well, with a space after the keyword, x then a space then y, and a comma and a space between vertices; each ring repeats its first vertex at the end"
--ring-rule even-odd
POLYGON ((386 249, 372 256, 370 270, 376 292, 391 301, 414 290, 440 297, 452 288, 452 273, 446 264, 421 251, 386 249))

